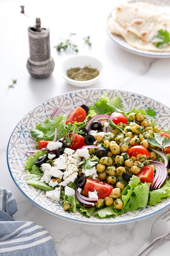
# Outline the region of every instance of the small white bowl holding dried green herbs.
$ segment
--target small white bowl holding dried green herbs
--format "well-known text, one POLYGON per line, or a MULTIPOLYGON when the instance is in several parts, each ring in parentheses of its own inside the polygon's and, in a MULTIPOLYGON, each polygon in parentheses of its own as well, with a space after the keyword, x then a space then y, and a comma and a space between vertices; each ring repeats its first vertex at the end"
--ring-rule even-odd
POLYGON ((87 87, 87 86, 90 86, 90 85, 93 85, 94 83, 96 83, 99 80, 99 78, 102 76, 103 65, 97 58, 94 58, 92 56, 76 55, 76 56, 72 56, 72 57, 66 59, 62 63, 61 72, 62 72, 62 76, 64 77, 64 79, 66 79, 66 81, 69 84, 77 86, 77 87, 87 87), (85 66, 88 66, 90 68, 96 68, 99 71, 99 75, 93 79, 86 80, 86 81, 76 81, 76 80, 68 78, 68 76, 66 74, 67 70, 74 68, 74 67, 83 68, 85 66))

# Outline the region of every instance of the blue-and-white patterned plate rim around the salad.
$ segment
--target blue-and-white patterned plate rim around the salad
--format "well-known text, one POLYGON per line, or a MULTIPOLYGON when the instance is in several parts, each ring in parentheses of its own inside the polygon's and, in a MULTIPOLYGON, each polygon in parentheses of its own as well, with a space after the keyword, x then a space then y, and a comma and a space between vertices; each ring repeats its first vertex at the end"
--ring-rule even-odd
POLYGON ((28 158, 26 150, 35 149, 36 145, 35 140, 30 134, 31 128, 35 128, 36 124, 40 124, 42 121, 45 121, 46 118, 50 118, 51 114, 58 106, 63 106, 64 110, 76 108, 76 106, 81 106, 82 104, 91 106, 104 92, 108 93, 109 98, 119 95, 122 99, 123 108, 126 111, 132 110, 133 108, 146 110, 149 106, 154 108, 157 112, 156 118, 158 124, 161 124, 162 128, 169 128, 167 127, 170 123, 169 108, 148 97, 121 90, 77 90, 49 99, 31 110, 22 118, 11 134, 7 148, 8 167, 13 181, 26 198, 42 210, 51 213, 54 216, 86 224, 110 225, 141 220, 152 216, 155 213, 159 213, 170 206, 170 198, 168 198, 156 206, 150 207, 148 205, 146 209, 127 212, 116 218, 99 219, 93 216, 91 218, 86 218, 78 211, 76 213, 64 211, 59 202, 54 202, 46 198, 45 191, 26 184, 26 172, 24 169, 26 159, 28 158))

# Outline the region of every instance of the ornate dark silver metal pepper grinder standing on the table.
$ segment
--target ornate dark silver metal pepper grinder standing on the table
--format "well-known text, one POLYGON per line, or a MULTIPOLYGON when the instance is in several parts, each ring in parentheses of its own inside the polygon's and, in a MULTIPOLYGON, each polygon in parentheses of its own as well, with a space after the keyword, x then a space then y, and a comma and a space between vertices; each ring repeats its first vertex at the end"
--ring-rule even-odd
POLYGON ((40 18, 36 18, 34 27, 28 28, 30 57, 26 67, 34 78, 47 78, 54 70, 55 63, 50 55, 50 30, 41 27, 40 18))

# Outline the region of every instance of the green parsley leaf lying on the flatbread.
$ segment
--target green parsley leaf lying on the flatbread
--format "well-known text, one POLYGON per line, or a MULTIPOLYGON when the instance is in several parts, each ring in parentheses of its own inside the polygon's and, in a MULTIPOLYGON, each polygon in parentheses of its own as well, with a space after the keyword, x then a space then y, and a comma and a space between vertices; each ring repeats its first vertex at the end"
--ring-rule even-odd
POLYGON ((163 31, 163 29, 160 29, 158 34, 152 38, 151 42, 155 44, 157 48, 166 47, 170 42, 170 34, 167 30, 163 31))

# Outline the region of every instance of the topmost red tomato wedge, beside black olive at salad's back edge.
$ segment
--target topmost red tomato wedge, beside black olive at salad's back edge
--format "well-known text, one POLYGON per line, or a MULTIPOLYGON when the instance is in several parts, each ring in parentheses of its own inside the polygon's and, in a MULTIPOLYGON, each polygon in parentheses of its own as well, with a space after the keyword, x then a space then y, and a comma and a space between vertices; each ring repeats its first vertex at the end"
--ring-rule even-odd
POLYGON ((83 122, 86 116, 87 116, 86 110, 82 107, 77 107, 73 111, 73 113, 71 113, 71 115, 69 115, 69 117, 67 118, 66 124, 67 123, 74 124, 75 121, 77 121, 77 123, 83 122))

